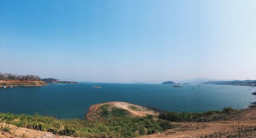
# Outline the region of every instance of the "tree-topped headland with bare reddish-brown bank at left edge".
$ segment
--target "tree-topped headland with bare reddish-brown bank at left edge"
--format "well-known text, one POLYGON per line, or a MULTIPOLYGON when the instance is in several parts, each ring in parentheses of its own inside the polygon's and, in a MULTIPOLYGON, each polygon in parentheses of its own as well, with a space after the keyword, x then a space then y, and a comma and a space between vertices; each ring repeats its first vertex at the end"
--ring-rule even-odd
POLYGON ((0 87, 14 86, 46 86, 37 75, 17 75, 11 73, 0 73, 0 87))

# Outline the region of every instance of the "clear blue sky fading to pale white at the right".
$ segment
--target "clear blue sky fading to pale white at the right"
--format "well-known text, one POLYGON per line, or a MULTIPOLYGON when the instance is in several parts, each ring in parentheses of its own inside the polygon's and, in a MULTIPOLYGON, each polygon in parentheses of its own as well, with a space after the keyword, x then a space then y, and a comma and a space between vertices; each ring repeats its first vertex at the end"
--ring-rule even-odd
POLYGON ((256 79, 256 1, 0 1, 0 72, 256 79))

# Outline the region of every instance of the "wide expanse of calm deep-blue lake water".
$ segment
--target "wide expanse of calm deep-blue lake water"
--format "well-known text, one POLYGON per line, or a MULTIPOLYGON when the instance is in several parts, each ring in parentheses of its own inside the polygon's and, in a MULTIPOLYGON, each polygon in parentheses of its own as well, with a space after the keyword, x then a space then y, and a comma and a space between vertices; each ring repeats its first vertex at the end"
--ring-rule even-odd
POLYGON ((231 85, 77 83, 41 87, 0 88, 0 112, 84 118, 100 102, 123 101, 169 111, 201 112, 224 106, 244 108, 256 101, 256 88, 231 85), (102 88, 94 88, 93 86, 102 88), (223 87, 223 88, 222 88, 223 87), (250 89, 250 90, 248 90, 250 89), (241 95, 241 96, 239 96, 241 95))

